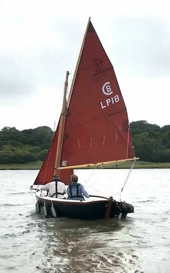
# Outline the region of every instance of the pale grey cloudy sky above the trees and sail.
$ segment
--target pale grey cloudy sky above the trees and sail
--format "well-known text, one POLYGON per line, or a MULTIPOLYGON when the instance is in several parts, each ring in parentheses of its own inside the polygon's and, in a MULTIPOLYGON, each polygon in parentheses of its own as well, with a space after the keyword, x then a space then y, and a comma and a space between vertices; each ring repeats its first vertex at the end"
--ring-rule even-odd
POLYGON ((170 124, 169 10, 164 0, 1 0, 0 129, 53 128, 89 16, 114 66, 129 121, 170 124))

